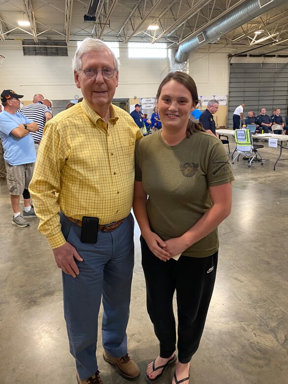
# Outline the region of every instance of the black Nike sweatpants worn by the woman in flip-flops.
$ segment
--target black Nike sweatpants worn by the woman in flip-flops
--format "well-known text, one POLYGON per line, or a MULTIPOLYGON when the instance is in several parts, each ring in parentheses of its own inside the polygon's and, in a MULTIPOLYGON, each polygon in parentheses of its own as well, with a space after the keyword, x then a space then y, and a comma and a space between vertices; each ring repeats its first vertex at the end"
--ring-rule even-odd
POLYGON ((188 363, 197 351, 213 293, 218 251, 208 257, 181 255, 179 260, 161 261, 140 237, 142 266, 146 280, 147 310, 160 341, 160 356, 176 349, 173 294, 178 313, 178 360, 188 363))

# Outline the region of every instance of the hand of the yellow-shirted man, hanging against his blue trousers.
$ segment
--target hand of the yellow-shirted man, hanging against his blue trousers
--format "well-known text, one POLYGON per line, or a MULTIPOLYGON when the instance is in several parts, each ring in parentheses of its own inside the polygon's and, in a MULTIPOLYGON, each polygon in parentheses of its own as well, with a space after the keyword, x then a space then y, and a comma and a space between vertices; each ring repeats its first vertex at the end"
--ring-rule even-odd
POLYGON ((61 247, 53 250, 56 264, 58 268, 61 268, 64 273, 76 277, 79 275, 79 269, 75 263, 74 257, 78 261, 83 261, 83 258, 78 254, 76 249, 68 242, 61 247))

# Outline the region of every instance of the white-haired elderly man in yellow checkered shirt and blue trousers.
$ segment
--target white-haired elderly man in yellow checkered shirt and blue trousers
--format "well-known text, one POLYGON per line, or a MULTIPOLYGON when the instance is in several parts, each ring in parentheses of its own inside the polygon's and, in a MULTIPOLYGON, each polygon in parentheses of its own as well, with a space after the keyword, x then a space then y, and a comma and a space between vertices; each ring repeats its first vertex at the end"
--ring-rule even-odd
POLYGON ((46 124, 30 191, 39 230, 63 271, 78 383, 102 383, 96 360, 101 299, 103 358, 133 380, 140 371, 126 335, 134 264, 130 209, 134 147, 142 133, 127 112, 111 104, 118 63, 107 45, 85 39, 73 70, 84 100, 46 124))

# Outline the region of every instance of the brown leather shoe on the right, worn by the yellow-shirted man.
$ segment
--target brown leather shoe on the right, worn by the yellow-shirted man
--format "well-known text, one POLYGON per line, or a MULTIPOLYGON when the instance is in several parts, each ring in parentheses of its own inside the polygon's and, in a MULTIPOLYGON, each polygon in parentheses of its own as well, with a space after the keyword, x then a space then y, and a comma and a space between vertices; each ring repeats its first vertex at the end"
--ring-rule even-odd
POLYGON ((103 358, 107 363, 114 365, 120 375, 127 380, 135 380, 140 376, 138 365, 131 359, 128 353, 122 357, 113 357, 104 351, 103 358))

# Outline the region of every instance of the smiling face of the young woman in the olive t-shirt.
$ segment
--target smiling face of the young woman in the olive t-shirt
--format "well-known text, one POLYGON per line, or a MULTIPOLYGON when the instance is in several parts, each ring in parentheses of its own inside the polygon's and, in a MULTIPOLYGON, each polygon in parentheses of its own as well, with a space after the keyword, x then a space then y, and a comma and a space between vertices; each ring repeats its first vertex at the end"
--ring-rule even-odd
POLYGON ((158 99, 162 127, 186 129, 195 106, 190 91, 183 84, 170 80, 163 85, 158 99))

